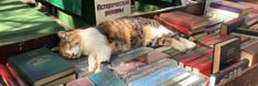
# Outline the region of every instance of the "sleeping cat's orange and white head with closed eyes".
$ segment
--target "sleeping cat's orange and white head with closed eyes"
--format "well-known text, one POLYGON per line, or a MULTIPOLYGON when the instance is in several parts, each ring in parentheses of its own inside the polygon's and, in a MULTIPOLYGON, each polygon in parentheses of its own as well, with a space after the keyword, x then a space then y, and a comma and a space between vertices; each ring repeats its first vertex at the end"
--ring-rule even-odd
POLYGON ((57 35, 61 39, 57 50, 65 58, 77 58, 80 56, 83 50, 79 30, 73 30, 69 32, 60 31, 57 32, 57 35))

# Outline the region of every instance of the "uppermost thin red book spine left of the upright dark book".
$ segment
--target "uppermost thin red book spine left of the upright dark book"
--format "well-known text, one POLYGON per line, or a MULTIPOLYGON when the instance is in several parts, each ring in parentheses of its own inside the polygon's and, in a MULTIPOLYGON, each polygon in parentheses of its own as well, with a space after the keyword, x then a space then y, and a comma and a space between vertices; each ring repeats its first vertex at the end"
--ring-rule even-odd
POLYGON ((180 64, 181 66, 184 66, 185 63, 189 63, 189 62, 191 62, 191 61, 197 60, 197 58, 200 58, 200 57, 202 57, 202 56, 209 55, 211 53, 213 53, 213 49, 207 50, 206 53, 205 53, 204 55, 197 55, 197 54, 195 54, 195 55, 192 55, 192 56, 190 56, 190 57, 185 57, 185 58, 181 60, 181 61, 179 62, 179 64, 180 64))

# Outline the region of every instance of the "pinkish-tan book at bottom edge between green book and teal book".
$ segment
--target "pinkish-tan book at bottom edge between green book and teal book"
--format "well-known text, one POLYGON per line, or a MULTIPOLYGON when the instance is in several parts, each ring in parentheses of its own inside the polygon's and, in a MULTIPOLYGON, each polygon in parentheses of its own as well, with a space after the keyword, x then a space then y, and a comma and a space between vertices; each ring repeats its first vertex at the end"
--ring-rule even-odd
POLYGON ((52 80, 50 83, 44 84, 43 86, 58 86, 58 85, 64 85, 73 79, 76 78, 76 74, 72 73, 69 75, 66 75, 64 77, 57 78, 55 80, 52 80))

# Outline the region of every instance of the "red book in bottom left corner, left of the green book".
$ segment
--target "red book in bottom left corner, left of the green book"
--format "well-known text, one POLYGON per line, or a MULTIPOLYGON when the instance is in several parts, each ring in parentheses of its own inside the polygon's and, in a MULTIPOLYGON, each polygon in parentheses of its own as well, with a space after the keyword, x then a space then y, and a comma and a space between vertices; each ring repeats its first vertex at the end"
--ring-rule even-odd
POLYGON ((12 75, 3 64, 0 64, 0 75, 8 86, 18 86, 15 79, 12 77, 12 75))

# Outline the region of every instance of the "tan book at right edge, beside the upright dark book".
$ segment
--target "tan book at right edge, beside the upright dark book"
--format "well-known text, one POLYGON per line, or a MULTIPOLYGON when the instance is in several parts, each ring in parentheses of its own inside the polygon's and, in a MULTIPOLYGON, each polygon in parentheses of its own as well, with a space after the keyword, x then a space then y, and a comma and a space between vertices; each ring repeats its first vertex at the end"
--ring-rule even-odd
POLYGON ((258 62, 258 42, 251 43, 241 50, 241 60, 247 58, 249 60, 248 66, 251 66, 258 62))

